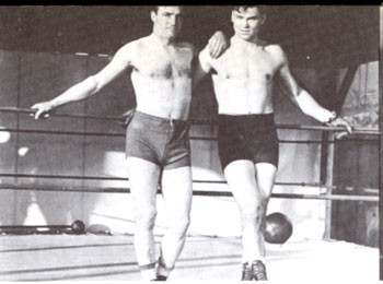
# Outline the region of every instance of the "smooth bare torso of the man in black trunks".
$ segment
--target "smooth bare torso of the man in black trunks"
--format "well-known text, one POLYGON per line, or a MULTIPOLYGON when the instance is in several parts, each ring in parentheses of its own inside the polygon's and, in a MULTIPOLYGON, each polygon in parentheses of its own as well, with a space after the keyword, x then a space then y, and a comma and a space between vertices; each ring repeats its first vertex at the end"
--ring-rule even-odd
POLYGON ((279 46, 257 46, 232 38, 231 47, 211 60, 219 113, 249 115, 274 113, 272 80, 281 66, 279 46))

